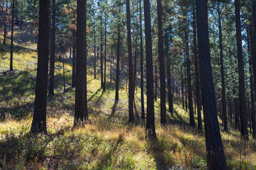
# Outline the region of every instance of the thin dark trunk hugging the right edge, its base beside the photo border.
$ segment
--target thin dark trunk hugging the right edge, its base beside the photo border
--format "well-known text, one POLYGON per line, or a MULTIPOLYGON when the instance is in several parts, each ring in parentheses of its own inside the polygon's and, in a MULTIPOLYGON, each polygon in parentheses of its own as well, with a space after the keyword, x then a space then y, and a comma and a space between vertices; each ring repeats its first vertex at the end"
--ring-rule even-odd
POLYGON ((254 105, 254 83, 253 83, 253 73, 252 73, 252 48, 251 48, 251 43, 252 39, 252 25, 248 25, 246 27, 246 36, 247 36, 247 46, 248 46, 248 53, 250 53, 251 50, 251 56, 249 55, 249 71, 250 71, 250 90, 251 90, 251 112, 252 112, 252 136, 255 139, 256 138, 256 120, 255 120, 255 105, 254 105))

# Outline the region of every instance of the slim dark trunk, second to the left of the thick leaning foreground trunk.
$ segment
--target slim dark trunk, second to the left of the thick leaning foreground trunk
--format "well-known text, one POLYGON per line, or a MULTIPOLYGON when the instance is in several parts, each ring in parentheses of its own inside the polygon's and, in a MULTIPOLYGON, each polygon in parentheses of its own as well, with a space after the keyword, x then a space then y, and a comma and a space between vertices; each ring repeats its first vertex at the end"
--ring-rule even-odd
POLYGON ((193 111, 193 99, 192 99, 192 85, 191 85, 191 72, 190 72, 190 58, 189 58, 189 39, 188 39, 188 25, 185 30, 185 53, 186 53, 186 65, 187 65, 187 83, 188 83, 188 106, 189 106, 189 124, 196 126, 195 116, 193 111))

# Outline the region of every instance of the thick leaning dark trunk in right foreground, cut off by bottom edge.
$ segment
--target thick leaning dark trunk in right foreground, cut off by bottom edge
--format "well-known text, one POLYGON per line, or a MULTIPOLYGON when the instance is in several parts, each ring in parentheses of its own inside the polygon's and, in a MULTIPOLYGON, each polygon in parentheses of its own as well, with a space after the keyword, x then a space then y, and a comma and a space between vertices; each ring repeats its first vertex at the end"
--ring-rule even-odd
POLYGON ((211 53, 209 45, 207 1, 196 0, 196 25, 200 83, 204 108, 204 127, 207 166, 209 169, 227 169, 226 158, 218 124, 214 84, 212 80, 211 53))

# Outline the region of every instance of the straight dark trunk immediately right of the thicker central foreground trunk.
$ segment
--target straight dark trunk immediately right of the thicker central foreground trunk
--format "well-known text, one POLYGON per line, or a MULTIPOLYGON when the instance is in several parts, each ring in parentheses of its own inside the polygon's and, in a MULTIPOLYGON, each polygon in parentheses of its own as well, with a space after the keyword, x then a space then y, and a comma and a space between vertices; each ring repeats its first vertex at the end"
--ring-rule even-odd
POLYGON ((159 72, 160 72, 161 124, 166 125, 166 87, 165 87, 164 40, 163 40, 161 0, 157 0, 157 25, 158 25, 158 59, 159 59, 159 72))

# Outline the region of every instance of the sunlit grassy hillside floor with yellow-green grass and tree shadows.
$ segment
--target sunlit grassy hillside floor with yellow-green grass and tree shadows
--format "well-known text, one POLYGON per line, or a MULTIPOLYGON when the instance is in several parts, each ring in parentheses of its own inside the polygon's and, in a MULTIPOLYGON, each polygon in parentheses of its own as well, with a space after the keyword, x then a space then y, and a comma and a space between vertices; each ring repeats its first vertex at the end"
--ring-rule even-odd
MULTIPOLYGON (((148 141, 145 122, 140 119, 140 86, 136 87, 134 125, 129 125, 127 72, 122 71, 120 101, 115 103, 115 64, 110 81, 109 61, 107 63, 107 88, 102 92, 98 69, 97 78, 93 79, 92 53, 88 57, 90 123, 73 128, 72 59, 67 54, 67 90, 64 91, 63 60, 56 55, 55 96, 47 101, 48 133, 29 134, 35 97, 36 44, 33 36, 27 33, 28 28, 17 30, 12 72, 8 71, 10 34, 7 44, 0 45, 0 114, 3 119, 0 122, 0 169, 206 169, 204 133, 189 126, 189 113, 182 109, 180 98, 173 99, 175 111, 173 115, 167 113, 169 124, 166 127, 159 123, 157 99, 157 140, 148 141)), ((2 35, 0 42, 3 42, 2 35)), ((228 132, 222 129, 228 168, 256 169, 256 142, 252 139, 241 141, 239 131, 232 130, 231 125, 228 132)))

